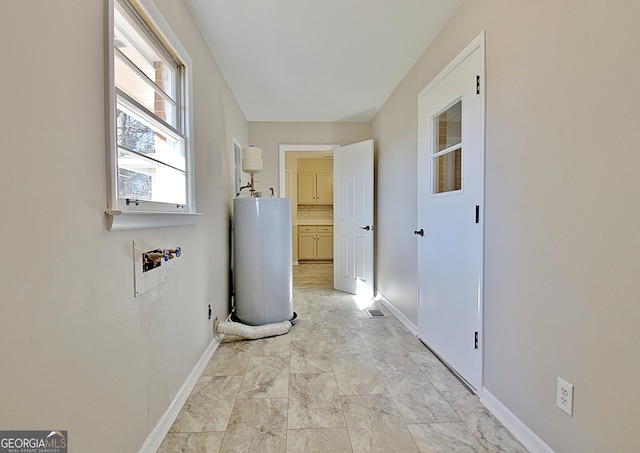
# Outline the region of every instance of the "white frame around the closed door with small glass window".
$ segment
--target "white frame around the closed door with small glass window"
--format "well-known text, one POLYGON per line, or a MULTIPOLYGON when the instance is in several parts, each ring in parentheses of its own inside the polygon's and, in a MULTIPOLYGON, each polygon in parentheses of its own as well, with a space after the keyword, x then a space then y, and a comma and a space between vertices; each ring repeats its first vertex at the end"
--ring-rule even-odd
MULTIPOLYGON (((480 90, 479 93, 482 93, 482 113, 481 113, 481 119, 480 121, 482 122, 482 130, 481 130, 481 141, 482 141, 482 153, 484 155, 485 152, 485 133, 484 133, 484 127, 485 127, 485 32, 483 31, 482 33, 480 33, 473 41, 471 41, 471 43, 469 43, 469 45, 467 45, 419 94, 418 96, 418 101, 419 101, 419 105, 420 105, 420 99, 426 94, 428 93, 432 88, 434 88, 438 83, 440 83, 445 77, 447 77, 454 69, 456 69, 467 57, 469 57, 472 53, 474 52, 480 52, 480 55, 482 56, 482 68, 480 71, 480 79, 478 81, 478 89, 480 90)), ((422 112, 420 113, 420 118, 419 121, 422 119, 422 112)), ((419 124, 420 127, 420 124, 419 124)), ((431 127, 431 125, 429 126, 431 127)), ((418 145, 419 147, 424 145, 424 140, 425 137, 423 137, 424 135, 424 129, 419 129, 419 140, 418 140, 418 145)), ((420 148, 419 148, 420 149, 420 148)), ((431 168, 431 166, 429 166, 429 168, 431 168)), ((431 171, 431 170, 430 170, 431 171)), ((481 212, 479 214, 479 237, 480 237, 480 262, 478 263, 478 299, 477 299, 477 303, 478 303, 478 323, 477 323, 477 328, 478 328, 478 340, 477 340, 477 344, 478 344, 478 349, 479 349, 479 353, 480 353, 480 370, 479 370, 479 380, 478 382, 475 383, 475 385, 472 385, 472 387, 474 387, 475 391, 480 395, 481 391, 482 391, 482 385, 483 385, 483 375, 484 375, 484 323, 483 323, 483 318, 484 318, 484 207, 485 207, 485 200, 484 200, 484 158, 483 158, 483 164, 482 164, 482 178, 483 178, 483 184, 482 184, 482 193, 480 194, 480 199, 481 199, 481 212)), ((431 176, 431 178, 433 177, 433 175, 431 176)), ((431 180, 430 178, 430 180, 431 180)), ((423 195, 426 196, 426 195, 423 195)), ((420 197, 418 199, 418 209, 420 209, 421 207, 421 200, 420 197)), ((420 219, 420 212, 418 212, 418 219, 420 219)), ((419 226, 418 228, 421 228, 421 226, 419 226)), ((426 232, 425 232, 426 233, 426 232)), ((428 234, 428 233, 427 233, 428 234)), ((418 270, 418 275, 420 275, 420 271, 418 270)), ((419 282, 418 282, 419 284, 419 282)), ((418 294, 420 294, 420 289, 418 289, 418 294)), ((418 300, 418 320, 420 319, 420 303, 421 301, 418 300)), ((420 326, 418 325, 418 331, 420 332, 420 326)))

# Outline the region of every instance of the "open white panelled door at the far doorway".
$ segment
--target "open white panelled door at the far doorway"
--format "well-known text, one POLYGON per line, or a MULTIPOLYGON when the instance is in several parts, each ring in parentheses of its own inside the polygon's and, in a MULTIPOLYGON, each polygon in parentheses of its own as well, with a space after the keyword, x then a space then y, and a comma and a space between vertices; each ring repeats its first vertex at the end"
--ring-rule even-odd
POLYGON ((334 149, 333 181, 334 287, 373 297, 373 140, 334 149))

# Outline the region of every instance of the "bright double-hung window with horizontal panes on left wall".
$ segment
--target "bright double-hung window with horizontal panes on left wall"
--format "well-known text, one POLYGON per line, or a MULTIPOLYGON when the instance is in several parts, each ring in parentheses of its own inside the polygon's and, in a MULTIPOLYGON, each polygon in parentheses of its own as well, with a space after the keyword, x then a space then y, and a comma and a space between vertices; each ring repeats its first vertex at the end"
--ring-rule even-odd
POLYGON ((113 0, 110 27, 107 213, 193 214, 188 54, 149 0, 113 0))

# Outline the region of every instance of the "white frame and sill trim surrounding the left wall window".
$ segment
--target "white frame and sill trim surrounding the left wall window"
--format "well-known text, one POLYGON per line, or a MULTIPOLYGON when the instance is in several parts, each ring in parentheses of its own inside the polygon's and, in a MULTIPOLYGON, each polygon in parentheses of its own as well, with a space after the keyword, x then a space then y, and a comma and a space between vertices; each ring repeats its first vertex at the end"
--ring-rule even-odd
POLYGON ((118 197, 118 151, 116 139, 116 88, 114 76, 114 7, 117 0, 107 0, 107 24, 105 32, 105 93, 106 93, 106 157, 107 157, 107 227, 109 230, 154 228, 194 224, 195 172, 193 166, 193 60, 184 48, 168 22, 164 19, 153 0, 122 0, 135 4, 145 22, 150 22, 153 31, 163 43, 170 46, 184 65, 181 102, 178 105, 183 123, 181 131, 185 136, 186 204, 169 204, 153 201, 125 203, 118 197))

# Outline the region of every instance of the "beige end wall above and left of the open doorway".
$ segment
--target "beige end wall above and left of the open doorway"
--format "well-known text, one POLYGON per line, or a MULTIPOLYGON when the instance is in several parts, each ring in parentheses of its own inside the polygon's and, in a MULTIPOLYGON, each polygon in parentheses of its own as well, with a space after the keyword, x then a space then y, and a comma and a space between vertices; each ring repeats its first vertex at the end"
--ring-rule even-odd
POLYGON ((279 187, 279 145, 348 145, 371 138, 369 123, 249 123, 249 143, 262 148, 264 170, 259 187, 279 187))

